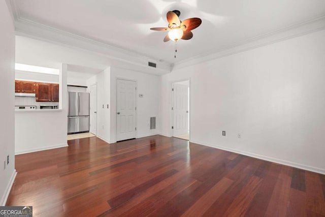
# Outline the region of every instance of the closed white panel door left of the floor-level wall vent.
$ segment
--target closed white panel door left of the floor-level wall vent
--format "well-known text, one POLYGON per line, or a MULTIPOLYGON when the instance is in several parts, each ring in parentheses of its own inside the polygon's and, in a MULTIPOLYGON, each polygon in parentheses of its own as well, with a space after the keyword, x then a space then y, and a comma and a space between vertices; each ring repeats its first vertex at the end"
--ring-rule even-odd
POLYGON ((117 79, 116 140, 136 138, 136 82, 117 79))

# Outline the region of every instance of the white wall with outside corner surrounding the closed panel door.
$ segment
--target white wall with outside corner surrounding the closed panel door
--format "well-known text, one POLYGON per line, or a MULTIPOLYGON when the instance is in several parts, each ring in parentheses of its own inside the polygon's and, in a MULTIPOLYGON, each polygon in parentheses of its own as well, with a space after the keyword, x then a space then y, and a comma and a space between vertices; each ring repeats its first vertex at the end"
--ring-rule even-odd
POLYGON ((151 116, 156 116, 158 126, 160 77, 127 69, 109 67, 100 74, 87 80, 88 90, 92 84, 97 83, 97 136, 109 143, 116 142, 117 78, 137 81, 137 138, 157 134, 158 128, 150 130, 149 122, 151 116), (139 98, 139 94, 143 94, 143 98, 139 98), (109 104, 109 108, 107 108, 107 104, 109 104))

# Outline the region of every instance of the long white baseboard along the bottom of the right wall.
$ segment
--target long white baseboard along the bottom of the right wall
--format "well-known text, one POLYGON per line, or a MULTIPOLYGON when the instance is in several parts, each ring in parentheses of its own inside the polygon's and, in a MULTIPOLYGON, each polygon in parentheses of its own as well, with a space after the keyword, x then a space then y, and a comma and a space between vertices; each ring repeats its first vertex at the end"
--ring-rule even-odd
POLYGON ((213 147, 213 148, 218 148, 218 149, 222 149, 222 150, 226 150, 226 151, 231 151, 231 152, 235 152, 235 153, 239 153, 239 154, 243 154, 245 156, 249 156, 252 158, 257 158, 257 159, 261 159, 261 160, 265 160, 265 161, 270 161, 270 162, 274 162, 277 164, 283 164, 283 165, 290 166, 290 167, 295 167, 295 168, 299 168, 299 169, 303 169, 303 170, 308 170, 311 172, 325 174, 325 169, 318 168, 318 167, 312 167, 312 166, 308 166, 308 165, 304 165, 304 164, 299 164, 296 162, 286 161, 286 160, 282 160, 282 159, 278 159, 278 158, 272 158, 272 157, 264 156, 262 154, 256 154, 256 153, 252 153, 252 152, 248 152, 248 151, 242 151, 242 150, 223 147, 223 146, 219 146, 219 145, 205 144, 205 143, 201 143, 198 141, 192 141, 192 140, 190 142, 213 147))

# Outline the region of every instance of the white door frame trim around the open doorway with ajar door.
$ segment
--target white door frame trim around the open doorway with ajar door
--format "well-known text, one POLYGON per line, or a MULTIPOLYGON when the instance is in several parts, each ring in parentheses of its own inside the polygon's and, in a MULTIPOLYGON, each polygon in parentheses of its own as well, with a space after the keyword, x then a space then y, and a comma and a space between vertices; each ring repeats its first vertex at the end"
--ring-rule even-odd
POLYGON ((171 137, 174 136, 174 130, 172 129, 173 125, 174 125, 174 110, 172 110, 172 107, 174 107, 174 94, 172 91, 173 88, 173 84, 174 83, 178 83, 178 82, 182 82, 182 81, 188 81, 188 141, 191 141, 191 78, 183 78, 183 79, 179 79, 179 80, 173 80, 170 82, 170 135, 171 137))

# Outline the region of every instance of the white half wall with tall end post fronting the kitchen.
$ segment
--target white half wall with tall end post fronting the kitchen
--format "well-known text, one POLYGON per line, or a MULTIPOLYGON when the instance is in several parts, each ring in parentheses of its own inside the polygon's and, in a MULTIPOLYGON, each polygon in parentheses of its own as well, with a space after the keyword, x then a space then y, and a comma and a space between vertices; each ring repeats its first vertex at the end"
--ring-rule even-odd
POLYGON ((16 154, 67 146, 66 64, 61 64, 59 83, 62 109, 15 112, 16 154))

